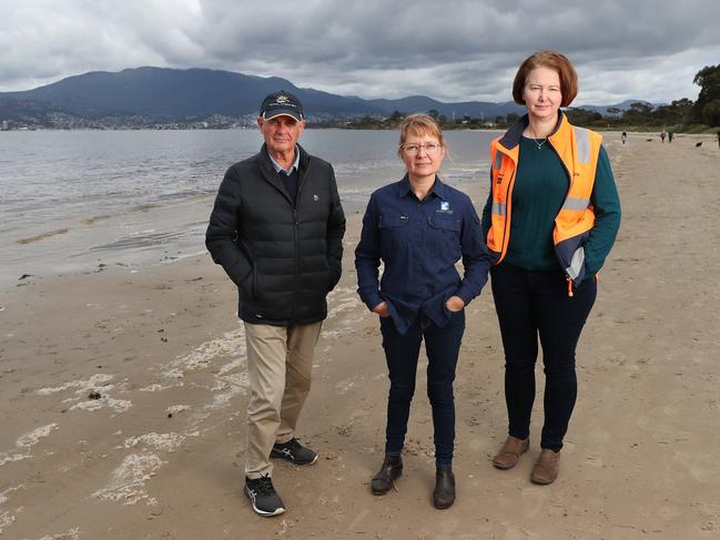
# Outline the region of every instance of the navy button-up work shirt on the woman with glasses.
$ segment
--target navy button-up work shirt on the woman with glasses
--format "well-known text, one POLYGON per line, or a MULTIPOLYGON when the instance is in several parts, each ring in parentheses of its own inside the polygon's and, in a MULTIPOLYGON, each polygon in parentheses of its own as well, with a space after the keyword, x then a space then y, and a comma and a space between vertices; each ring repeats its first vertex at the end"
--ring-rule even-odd
POLYGON ((469 304, 487 282, 489 267, 470 198, 439 176, 423 201, 410 190, 407 175, 371 196, 355 249, 357 293, 371 310, 387 302, 400 334, 420 312, 445 326, 445 302, 455 295, 469 304), (455 267, 460 258, 463 278, 455 267), (385 267, 378 286, 381 261, 385 267))

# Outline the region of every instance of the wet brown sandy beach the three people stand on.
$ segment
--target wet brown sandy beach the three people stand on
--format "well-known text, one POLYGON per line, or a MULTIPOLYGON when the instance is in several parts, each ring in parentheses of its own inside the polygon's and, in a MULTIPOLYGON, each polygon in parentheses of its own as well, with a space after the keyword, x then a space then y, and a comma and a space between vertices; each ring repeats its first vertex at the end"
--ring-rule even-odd
MULTIPOLYGON (((273 519, 241 491, 244 333, 234 286, 209 255, 34 275, 4 292, 0 538, 720 538, 720 150, 709 135, 605 141, 622 225, 578 348, 554 485, 529 482, 541 393, 530 451, 510 471, 490 465, 506 412, 488 286, 468 306, 458 364, 455 506, 430 501, 424 363, 405 473, 396 491, 371 495, 388 381, 377 319, 355 293, 353 213, 297 434, 321 457, 276 463, 288 511, 273 519)), ((479 211, 487 186, 470 189, 479 211)))

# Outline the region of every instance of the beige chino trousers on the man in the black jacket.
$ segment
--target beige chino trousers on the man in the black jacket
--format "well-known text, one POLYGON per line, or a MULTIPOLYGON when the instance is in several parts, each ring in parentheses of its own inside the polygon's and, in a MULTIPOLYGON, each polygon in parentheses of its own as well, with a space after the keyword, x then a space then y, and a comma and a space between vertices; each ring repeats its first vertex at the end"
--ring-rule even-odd
POLYGON ((322 326, 322 322, 295 326, 245 323, 250 383, 247 478, 272 476, 273 445, 293 438, 310 393, 313 354, 322 326))

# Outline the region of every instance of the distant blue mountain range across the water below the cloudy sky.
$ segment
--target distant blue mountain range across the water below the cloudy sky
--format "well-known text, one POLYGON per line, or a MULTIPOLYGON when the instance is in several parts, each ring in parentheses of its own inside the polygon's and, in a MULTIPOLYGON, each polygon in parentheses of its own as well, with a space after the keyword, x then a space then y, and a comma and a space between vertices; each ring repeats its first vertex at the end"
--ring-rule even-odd
MULTIPOLYGON (((277 77, 262 78, 206 69, 148 67, 120 72, 94 71, 33 90, 0 92, 0 120, 4 109, 17 109, 20 105, 18 101, 23 102, 26 109, 42 108, 42 104, 47 104, 55 113, 87 119, 140 115, 155 120, 187 120, 213 114, 242 118, 256 114, 263 98, 281 89, 300 98, 311 120, 388 116, 395 111, 412 113, 430 110, 436 110, 438 114, 447 118, 467 115, 493 120, 508 113, 524 112, 524 108, 514 102, 444 103, 425 95, 396 100, 364 100, 297 88, 288 80, 277 77)), ((590 105, 584 109, 607 113, 608 108, 625 110, 633 101, 637 100, 618 105, 590 105)))

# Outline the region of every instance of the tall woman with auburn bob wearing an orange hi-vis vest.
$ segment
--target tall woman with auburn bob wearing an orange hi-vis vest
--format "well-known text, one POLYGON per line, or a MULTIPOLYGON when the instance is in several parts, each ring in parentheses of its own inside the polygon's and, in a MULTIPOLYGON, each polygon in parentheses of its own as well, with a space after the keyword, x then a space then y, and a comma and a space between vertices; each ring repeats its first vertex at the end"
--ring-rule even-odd
POLYGON ((511 469, 529 448, 539 338, 545 421, 530 477, 539 485, 559 472, 577 396, 575 349, 620 226, 601 136, 571 125, 560 110, 577 88, 575 69, 560 53, 539 51, 523 62, 513 96, 527 114, 490 144, 491 189, 483 211, 508 411, 508 437, 493 463, 511 469))

